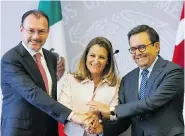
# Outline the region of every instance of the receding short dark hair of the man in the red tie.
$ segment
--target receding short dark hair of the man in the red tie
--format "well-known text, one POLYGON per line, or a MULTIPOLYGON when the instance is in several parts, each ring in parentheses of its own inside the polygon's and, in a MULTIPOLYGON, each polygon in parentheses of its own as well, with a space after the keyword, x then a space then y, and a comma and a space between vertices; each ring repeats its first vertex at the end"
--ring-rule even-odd
POLYGON ((48 16, 41 10, 29 10, 26 13, 24 13, 24 15, 22 16, 22 20, 21 20, 21 25, 23 25, 24 20, 26 19, 27 16, 33 14, 35 17, 40 18, 41 16, 45 17, 47 22, 48 22, 48 28, 49 28, 49 18, 48 16))

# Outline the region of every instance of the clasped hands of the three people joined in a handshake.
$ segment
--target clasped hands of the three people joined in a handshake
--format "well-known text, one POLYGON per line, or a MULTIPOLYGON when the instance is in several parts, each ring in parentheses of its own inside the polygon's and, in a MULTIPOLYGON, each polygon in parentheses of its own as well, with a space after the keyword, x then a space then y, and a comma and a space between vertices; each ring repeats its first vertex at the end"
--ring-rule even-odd
POLYGON ((100 134, 103 132, 102 120, 108 120, 110 116, 109 105, 91 101, 88 103, 90 111, 84 114, 74 113, 71 121, 81 125, 88 134, 100 134))

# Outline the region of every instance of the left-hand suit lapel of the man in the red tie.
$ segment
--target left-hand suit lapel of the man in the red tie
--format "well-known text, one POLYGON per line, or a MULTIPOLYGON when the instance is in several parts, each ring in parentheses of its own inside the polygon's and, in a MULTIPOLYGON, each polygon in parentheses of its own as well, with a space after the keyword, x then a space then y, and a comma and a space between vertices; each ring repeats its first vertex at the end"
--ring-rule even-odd
POLYGON ((42 89, 45 90, 44 81, 42 79, 42 76, 40 74, 40 71, 37 67, 37 64, 35 63, 33 57, 30 55, 30 53, 23 47, 23 45, 20 43, 17 48, 17 53, 20 54, 22 57, 22 63, 32 78, 32 80, 42 89))

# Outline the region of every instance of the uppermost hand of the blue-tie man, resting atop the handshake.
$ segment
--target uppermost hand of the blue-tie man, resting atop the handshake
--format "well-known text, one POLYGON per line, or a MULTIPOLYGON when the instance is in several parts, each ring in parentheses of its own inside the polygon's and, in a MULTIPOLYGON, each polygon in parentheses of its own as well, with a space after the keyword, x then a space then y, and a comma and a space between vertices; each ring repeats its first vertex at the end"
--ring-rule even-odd
POLYGON ((110 106, 106 105, 104 103, 101 102, 96 102, 96 101, 91 101, 88 103, 88 105, 90 105, 91 108, 100 111, 101 115, 103 116, 102 118, 104 120, 109 119, 110 117, 110 106))

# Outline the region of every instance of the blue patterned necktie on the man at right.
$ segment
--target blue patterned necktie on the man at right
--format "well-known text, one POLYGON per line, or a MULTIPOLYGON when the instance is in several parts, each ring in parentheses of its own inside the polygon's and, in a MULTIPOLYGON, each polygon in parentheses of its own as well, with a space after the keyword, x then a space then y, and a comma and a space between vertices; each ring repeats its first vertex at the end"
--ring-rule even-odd
POLYGON ((146 91, 146 85, 148 82, 148 75, 149 71, 143 70, 141 75, 142 75, 142 79, 141 79, 141 84, 140 84, 140 99, 144 99, 145 98, 145 91, 146 91))

